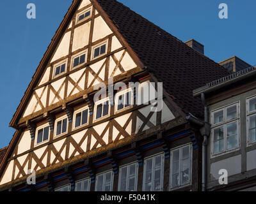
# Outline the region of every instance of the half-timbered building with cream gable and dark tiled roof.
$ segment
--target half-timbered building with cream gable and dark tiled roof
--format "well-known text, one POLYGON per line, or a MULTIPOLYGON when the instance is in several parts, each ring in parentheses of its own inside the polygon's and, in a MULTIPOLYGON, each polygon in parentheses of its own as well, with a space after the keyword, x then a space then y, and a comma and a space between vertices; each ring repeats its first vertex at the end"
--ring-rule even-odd
POLYGON ((74 0, 10 122, 0 190, 199 191, 202 133, 188 118, 204 111, 192 91, 227 74, 118 1, 74 0), (111 94, 112 78, 127 89, 111 94))

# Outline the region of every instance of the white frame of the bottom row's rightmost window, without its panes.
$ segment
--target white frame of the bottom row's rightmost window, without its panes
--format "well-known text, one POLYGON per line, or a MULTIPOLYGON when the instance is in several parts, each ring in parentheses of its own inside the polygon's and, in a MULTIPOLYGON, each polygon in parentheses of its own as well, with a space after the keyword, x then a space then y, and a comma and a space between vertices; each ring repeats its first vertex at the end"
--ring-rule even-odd
MULTIPOLYGON (((182 187, 186 187, 186 186, 191 186, 192 185, 192 167, 193 167, 193 148, 192 148, 192 144, 188 143, 186 145, 180 145, 179 147, 175 147, 173 149, 170 150, 170 178, 169 178, 169 191, 173 191, 175 189, 180 189, 182 187), (180 155, 179 155, 179 164, 181 166, 181 156, 182 156, 182 148, 184 147, 189 147, 189 162, 190 162, 190 166, 189 166, 189 182, 187 184, 179 184, 179 186, 176 187, 172 187, 172 159, 173 159, 173 151, 179 149, 180 150, 180 155)), ((181 177, 181 168, 179 166, 179 175, 181 177)))

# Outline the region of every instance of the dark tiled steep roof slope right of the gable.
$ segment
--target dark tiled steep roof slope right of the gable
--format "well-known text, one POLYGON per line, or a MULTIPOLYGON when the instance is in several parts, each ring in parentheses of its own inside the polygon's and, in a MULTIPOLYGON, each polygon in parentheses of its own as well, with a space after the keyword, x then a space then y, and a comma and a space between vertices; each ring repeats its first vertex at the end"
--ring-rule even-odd
POLYGON ((124 4, 116 0, 97 2, 177 105, 185 113, 202 117, 202 103, 200 98, 193 98, 193 89, 228 75, 228 71, 124 4))

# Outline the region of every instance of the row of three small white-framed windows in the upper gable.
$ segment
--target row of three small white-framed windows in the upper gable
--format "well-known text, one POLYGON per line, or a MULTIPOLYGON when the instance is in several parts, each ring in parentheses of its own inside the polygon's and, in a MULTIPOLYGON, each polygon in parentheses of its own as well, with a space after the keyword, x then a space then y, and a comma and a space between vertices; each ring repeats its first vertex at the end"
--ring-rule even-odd
MULTIPOLYGON (((96 59, 104 54, 106 54, 107 42, 103 44, 96 45, 93 47, 92 59, 96 59)), ((72 57, 72 68, 77 68, 86 62, 86 52, 82 52, 80 54, 72 57)), ((67 60, 62 61, 56 66, 54 66, 54 77, 58 77, 66 72, 67 69, 67 60)))

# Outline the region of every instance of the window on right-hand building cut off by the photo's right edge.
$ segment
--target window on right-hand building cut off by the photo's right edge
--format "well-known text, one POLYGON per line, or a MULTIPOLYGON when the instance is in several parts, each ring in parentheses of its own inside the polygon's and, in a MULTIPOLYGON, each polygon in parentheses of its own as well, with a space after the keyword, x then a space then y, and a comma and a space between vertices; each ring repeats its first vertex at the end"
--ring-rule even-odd
POLYGON ((256 142, 256 97, 246 99, 247 143, 256 142))

